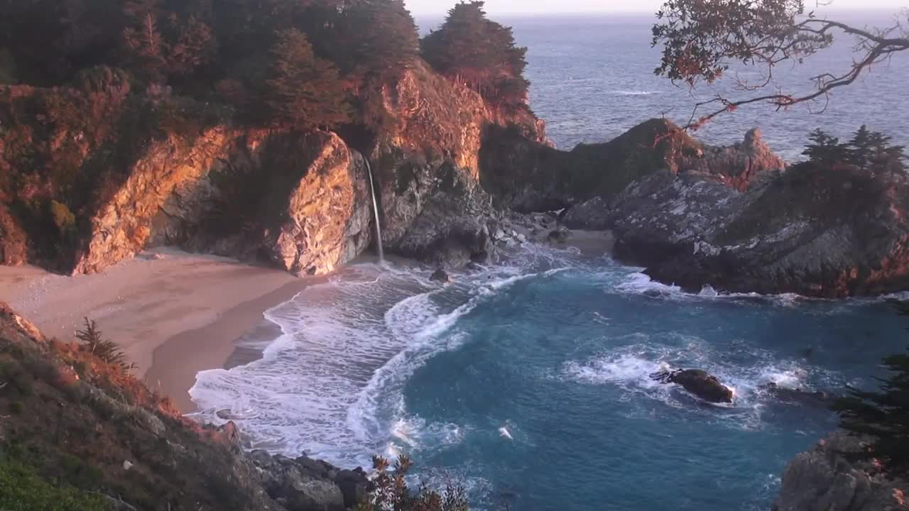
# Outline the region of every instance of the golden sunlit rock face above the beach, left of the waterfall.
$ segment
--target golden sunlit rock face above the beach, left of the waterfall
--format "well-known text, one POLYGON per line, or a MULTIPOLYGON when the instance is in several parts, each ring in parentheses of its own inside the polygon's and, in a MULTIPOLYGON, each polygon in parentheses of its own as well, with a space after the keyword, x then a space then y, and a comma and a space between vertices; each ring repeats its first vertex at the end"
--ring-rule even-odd
POLYGON ((189 146, 168 140, 92 217, 74 271, 166 244, 324 274, 369 244, 366 183, 363 157, 331 133, 215 129, 189 146))

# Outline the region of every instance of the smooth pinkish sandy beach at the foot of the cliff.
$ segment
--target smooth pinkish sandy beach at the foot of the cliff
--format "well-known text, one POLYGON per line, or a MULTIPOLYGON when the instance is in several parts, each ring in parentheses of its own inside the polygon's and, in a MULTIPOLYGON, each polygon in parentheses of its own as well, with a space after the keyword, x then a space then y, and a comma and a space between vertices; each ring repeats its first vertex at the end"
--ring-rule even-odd
POLYGON ((123 347, 136 374, 193 410, 195 374, 224 366, 234 341, 311 279, 212 255, 160 249, 101 274, 59 276, 35 266, 0 266, 0 300, 46 336, 74 337, 83 318, 123 347))

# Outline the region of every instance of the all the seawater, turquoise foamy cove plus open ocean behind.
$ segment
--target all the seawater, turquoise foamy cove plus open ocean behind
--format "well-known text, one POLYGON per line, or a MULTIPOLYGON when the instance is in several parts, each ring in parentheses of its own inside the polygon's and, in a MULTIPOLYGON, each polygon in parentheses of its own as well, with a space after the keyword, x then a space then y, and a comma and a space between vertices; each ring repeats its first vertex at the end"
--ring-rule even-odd
MULTIPOLYGON (((504 21, 531 48, 532 105, 562 147, 690 101, 651 75, 643 18, 504 21)), ((760 125, 793 155, 815 125, 905 136, 905 64, 824 115, 740 111, 703 135, 732 142, 760 125)), ((200 373, 201 414, 229 410, 255 446, 290 456, 368 466, 406 453, 415 485, 463 485, 475 509, 766 511, 785 464, 836 419, 761 386, 872 386, 880 358, 905 347, 907 320, 879 299, 686 294, 574 250, 524 246, 445 287, 429 274, 348 266, 269 310, 281 335, 245 338, 260 360, 200 373), (714 373, 734 403, 648 378, 668 367, 714 373)))

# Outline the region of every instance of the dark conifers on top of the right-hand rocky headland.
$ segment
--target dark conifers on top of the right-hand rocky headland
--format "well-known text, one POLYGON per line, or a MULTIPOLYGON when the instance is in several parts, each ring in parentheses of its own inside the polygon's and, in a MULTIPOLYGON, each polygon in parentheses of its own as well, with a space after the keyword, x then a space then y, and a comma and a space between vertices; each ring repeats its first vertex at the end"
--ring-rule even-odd
POLYGON ((854 165, 863 170, 883 170, 898 172, 904 170, 904 147, 891 145, 891 138, 878 132, 870 131, 862 125, 853 138, 846 143, 828 135, 820 128, 808 135, 811 144, 805 147, 803 155, 810 162, 854 165))

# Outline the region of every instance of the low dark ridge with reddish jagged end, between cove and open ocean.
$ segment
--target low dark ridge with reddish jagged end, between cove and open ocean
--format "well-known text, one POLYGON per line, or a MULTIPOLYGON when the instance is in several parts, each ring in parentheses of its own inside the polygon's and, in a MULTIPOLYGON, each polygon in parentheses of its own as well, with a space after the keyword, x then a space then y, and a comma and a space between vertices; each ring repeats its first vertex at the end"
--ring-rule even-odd
MULTIPOLYGON (((759 130, 728 147, 703 145, 665 119, 651 119, 602 144, 559 151, 516 130, 491 129, 481 154, 481 179, 498 204, 518 211, 548 211, 609 200, 646 175, 700 175, 736 189, 785 163, 759 130)), ((594 225, 578 227, 595 228, 594 225)))

